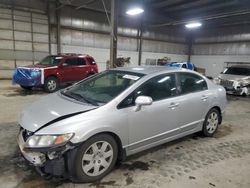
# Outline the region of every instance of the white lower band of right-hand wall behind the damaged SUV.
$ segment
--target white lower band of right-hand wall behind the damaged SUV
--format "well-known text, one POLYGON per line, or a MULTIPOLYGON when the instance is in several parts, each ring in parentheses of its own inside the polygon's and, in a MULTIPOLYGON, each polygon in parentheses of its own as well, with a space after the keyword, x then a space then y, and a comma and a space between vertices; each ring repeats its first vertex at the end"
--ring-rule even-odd
POLYGON ((250 62, 250 55, 193 55, 191 61, 206 69, 206 75, 217 77, 223 71, 224 62, 250 62))

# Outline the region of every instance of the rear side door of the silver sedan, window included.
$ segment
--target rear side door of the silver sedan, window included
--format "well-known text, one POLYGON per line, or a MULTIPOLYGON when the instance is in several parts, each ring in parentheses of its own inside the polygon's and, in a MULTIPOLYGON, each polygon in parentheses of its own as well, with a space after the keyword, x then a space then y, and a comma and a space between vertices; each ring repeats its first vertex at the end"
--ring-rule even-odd
POLYGON ((179 72, 177 78, 180 130, 186 132, 199 129, 209 110, 212 93, 208 90, 206 80, 197 74, 179 72))

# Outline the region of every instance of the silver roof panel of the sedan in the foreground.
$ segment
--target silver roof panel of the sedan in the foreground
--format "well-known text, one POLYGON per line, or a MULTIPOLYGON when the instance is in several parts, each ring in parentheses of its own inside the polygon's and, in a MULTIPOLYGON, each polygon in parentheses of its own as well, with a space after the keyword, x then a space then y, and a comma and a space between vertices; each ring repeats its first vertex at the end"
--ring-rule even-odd
POLYGON ((174 70, 180 70, 179 67, 167 67, 167 66, 136 66, 136 67, 118 67, 111 70, 128 71, 141 74, 153 74, 156 72, 172 72, 174 70))

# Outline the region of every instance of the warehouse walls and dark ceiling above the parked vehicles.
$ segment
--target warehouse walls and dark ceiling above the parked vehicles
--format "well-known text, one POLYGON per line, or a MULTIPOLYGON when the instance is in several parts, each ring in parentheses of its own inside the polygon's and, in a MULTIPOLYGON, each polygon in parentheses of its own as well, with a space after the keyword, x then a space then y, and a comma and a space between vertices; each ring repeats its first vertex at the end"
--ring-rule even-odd
MULTIPOLYGON (((126 9, 135 6, 134 2, 121 1, 116 20, 117 55, 131 57, 132 65, 165 56, 173 62, 190 58, 195 65, 206 68, 208 76, 214 77, 223 70, 224 62, 248 61, 250 5, 247 1, 136 1, 145 7, 143 15, 126 15, 126 9), (197 30, 184 27, 195 20, 203 26, 197 30)), ((10 77, 17 66, 57 53, 95 55, 104 70, 110 59, 107 15, 111 1, 103 3, 2 0, 1 77, 10 77)))

